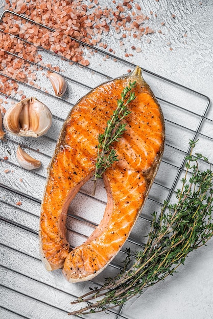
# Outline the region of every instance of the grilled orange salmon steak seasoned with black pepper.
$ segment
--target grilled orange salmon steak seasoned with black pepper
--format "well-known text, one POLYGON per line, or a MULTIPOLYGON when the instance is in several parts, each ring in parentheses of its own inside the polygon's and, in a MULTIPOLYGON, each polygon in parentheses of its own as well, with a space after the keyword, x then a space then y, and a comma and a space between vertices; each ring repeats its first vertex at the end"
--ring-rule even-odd
POLYGON ((109 264, 144 206, 162 157, 164 137, 160 105, 139 67, 91 90, 78 101, 62 127, 41 205, 39 241, 47 270, 63 268, 69 282, 78 282, 92 279, 109 264), (104 217, 86 242, 69 252, 69 203, 94 174, 98 136, 129 81, 136 81, 136 98, 129 104, 131 114, 124 119, 126 131, 113 143, 119 161, 103 174, 107 192, 104 217))

